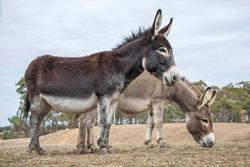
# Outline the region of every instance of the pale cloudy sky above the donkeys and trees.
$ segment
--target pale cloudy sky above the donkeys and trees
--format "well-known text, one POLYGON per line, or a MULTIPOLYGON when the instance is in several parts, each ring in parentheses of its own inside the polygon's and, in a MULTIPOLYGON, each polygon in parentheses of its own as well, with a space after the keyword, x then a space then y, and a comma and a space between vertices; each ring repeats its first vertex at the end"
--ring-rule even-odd
POLYGON ((169 41, 186 78, 250 80, 249 0, 0 0, 0 126, 19 105, 15 83, 37 56, 110 50, 139 26, 174 18, 169 41))

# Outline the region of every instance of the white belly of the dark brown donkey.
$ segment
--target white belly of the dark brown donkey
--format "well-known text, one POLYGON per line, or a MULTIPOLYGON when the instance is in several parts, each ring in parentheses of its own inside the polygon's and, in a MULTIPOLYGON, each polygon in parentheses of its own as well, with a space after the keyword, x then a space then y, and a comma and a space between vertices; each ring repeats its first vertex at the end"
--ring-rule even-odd
POLYGON ((69 98, 51 95, 40 95, 54 111, 65 113, 84 113, 87 110, 96 107, 96 96, 91 95, 88 98, 69 98))

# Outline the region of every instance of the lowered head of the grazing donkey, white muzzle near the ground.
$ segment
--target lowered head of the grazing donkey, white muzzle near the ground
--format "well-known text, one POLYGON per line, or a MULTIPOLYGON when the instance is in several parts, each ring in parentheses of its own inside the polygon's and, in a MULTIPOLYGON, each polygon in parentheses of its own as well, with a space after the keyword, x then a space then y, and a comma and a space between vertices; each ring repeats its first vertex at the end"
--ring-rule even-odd
POLYGON ((202 147, 212 147, 215 144, 210 106, 216 93, 215 89, 208 87, 198 100, 196 111, 186 114, 187 129, 202 147))

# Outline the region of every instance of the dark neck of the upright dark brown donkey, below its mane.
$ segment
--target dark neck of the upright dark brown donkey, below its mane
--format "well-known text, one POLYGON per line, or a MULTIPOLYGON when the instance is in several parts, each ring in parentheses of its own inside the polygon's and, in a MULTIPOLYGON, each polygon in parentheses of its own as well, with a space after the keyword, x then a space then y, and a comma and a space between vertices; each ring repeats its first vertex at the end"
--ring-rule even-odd
POLYGON ((114 49, 120 55, 121 66, 124 67, 122 72, 125 76, 125 87, 144 71, 142 59, 148 45, 148 42, 141 37, 114 49))

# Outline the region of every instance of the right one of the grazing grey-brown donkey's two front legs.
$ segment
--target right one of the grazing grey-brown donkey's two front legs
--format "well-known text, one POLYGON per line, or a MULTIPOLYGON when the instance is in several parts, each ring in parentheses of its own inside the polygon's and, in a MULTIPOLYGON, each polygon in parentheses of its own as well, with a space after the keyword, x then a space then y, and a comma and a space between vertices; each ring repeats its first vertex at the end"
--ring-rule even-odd
POLYGON ((157 139, 157 144, 160 147, 164 147, 166 145, 163 139, 164 104, 165 103, 163 101, 153 102, 153 119, 156 128, 156 139, 157 139))

